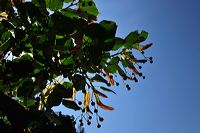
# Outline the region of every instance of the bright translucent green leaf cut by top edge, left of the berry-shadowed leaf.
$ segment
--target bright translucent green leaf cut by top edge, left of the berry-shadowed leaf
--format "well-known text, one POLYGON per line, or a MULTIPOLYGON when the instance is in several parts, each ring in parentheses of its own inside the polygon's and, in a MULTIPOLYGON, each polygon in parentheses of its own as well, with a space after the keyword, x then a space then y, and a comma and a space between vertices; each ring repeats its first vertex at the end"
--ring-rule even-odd
POLYGON ((63 7, 63 0, 45 0, 46 7, 52 11, 62 9, 63 7))

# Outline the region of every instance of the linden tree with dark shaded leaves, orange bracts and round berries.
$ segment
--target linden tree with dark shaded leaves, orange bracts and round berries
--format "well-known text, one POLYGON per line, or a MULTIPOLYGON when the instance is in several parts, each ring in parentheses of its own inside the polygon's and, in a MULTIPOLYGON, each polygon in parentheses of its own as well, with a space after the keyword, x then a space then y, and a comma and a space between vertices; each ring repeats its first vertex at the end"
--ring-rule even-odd
POLYGON ((0 2, 1 131, 75 133, 76 121, 90 125, 92 115, 99 118, 99 128, 103 117, 97 106, 114 110, 101 98, 107 98, 106 92, 115 94, 115 77, 138 82, 145 78, 138 69, 153 62, 144 55, 152 44, 141 45, 148 33, 116 37, 115 22, 97 22, 99 11, 92 0, 0 2), (81 116, 52 110, 61 104, 81 116))

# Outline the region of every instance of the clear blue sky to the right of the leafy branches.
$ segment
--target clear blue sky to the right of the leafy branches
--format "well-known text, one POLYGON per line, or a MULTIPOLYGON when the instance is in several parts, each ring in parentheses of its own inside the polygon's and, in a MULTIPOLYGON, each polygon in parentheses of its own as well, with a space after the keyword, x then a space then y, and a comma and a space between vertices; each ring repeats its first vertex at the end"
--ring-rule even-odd
POLYGON ((131 91, 114 88, 101 110, 105 121, 85 126, 86 133, 200 133, 200 1, 96 0, 99 20, 114 20, 117 35, 133 30, 149 32, 154 45, 146 55, 146 79, 131 91))

